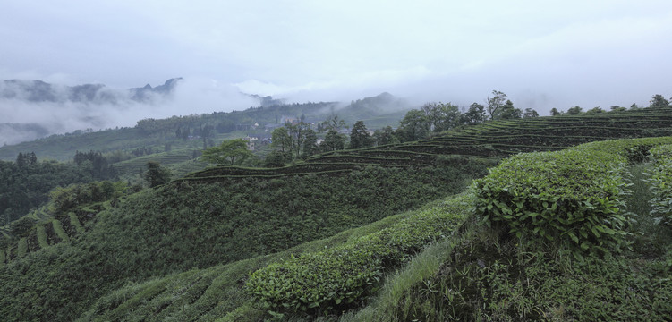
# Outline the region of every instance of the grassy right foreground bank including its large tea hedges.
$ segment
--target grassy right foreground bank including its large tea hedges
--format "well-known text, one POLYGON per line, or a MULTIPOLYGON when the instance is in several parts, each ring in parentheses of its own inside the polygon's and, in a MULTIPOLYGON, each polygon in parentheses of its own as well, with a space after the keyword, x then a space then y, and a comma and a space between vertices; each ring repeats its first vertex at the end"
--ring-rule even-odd
MULTIPOLYGON (((440 252, 437 248, 425 250, 418 256, 418 263, 392 275, 379 297, 367 308, 343 320, 662 321, 672 318, 672 306, 668 301, 672 294, 669 265, 672 232, 669 227, 654 224, 655 218, 649 210, 655 207, 658 198, 651 199, 647 187, 652 182, 646 179, 648 175, 641 175, 642 167, 649 169, 647 171, 659 169, 659 151, 669 150, 670 146, 666 144, 670 142, 672 138, 606 141, 574 149, 572 153, 585 154, 589 162, 596 150, 610 151, 616 159, 629 159, 629 162, 609 165, 614 171, 606 174, 606 177, 618 176, 614 179, 620 188, 612 191, 616 192, 612 197, 615 203, 623 206, 619 207, 618 213, 612 214, 598 207, 596 212, 586 209, 600 203, 583 195, 583 191, 602 187, 600 184, 582 187, 569 181, 583 180, 584 174, 592 173, 591 167, 584 167, 583 162, 574 163, 574 160, 558 163, 571 170, 562 173, 567 174, 564 180, 567 185, 561 186, 574 186, 574 193, 579 197, 572 198, 571 190, 558 192, 554 195, 555 200, 548 201, 549 208, 555 207, 550 204, 552 202, 557 202, 557 207, 571 202, 578 211, 552 218, 556 224, 551 224, 551 238, 540 236, 540 233, 525 233, 518 238, 515 235, 517 228, 511 231, 511 227, 528 227, 532 232, 539 228, 539 232, 541 227, 552 223, 536 220, 542 216, 543 209, 548 209, 546 207, 538 216, 529 216, 530 213, 525 211, 506 215, 506 209, 518 206, 514 199, 501 200, 515 195, 515 189, 492 194, 492 199, 477 199, 477 211, 472 213, 471 220, 467 220, 470 224, 464 226, 461 236, 440 244, 437 247, 442 249, 440 252), (659 148, 652 148, 657 146, 659 148), (645 155, 651 153, 651 158, 643 160, 644 164, 640 163, 642 151, 648 152, 645 155), (642 199, 651 202, 650 207, 634 207, 642 199), (505 214, 500 216, 501 219, 493 221, 483 216, 487 213, 479 210, 479 206, 487 200, 499 200, 499 206, 491 208, 490 214, 505 214), (565 222, 572 218, 570 214, 583 219, 572 225, 565 222), (605 215, 607 221, 599 224, 619 221, 618 216, 629 216, 636 221, 616 227, 589 228, 585 235, 579 233, 595 224, 592 216, 605 215), (588 245, 575 247, 583 242, 588 245), (592 246, 596 244, 602 249, 595 251, 592 246), (626 247, 619 248, 623 245, 626 247)), ((504 173, 517 170, 511 165, 513 163, 500 165, 498 170, 504 173)), ((532 167, 546 171, 548 163, 532 167)), ((549 185, 546 180, 535 180, 532 172, 526 174, 531 174, 528 183, 532 184, 520 193, 536 195, 537 187, 549 185)), ((475 183, 473 193, 482 196, 479 187, 499 184, 490 179, 486 177, 475 183)), ((541 191, 544 190, 546 188, 541 191)))

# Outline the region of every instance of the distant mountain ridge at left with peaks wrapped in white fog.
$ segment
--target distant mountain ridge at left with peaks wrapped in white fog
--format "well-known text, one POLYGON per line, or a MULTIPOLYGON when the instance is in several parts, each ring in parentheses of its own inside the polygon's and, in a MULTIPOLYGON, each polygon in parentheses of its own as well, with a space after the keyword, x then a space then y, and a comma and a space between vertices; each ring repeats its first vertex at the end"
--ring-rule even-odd
POLYGON ((162 85, 113 89, 65 86, 42 80, 0 82, 0 145, 55 133, 132 126, 142 118, 231 111, 275 102, 212 80, 174 78, 162 85))

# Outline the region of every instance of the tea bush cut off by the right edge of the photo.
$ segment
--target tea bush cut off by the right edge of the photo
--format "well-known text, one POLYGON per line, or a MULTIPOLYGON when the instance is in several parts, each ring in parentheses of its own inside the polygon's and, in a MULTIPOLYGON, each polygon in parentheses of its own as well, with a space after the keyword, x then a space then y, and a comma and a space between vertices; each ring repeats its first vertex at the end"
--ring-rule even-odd
POLYGON ((672 224, 672 145, 651 148, 651 168, 649 183, 653 192, 651 215, 658 216, 659 222, 672 224))

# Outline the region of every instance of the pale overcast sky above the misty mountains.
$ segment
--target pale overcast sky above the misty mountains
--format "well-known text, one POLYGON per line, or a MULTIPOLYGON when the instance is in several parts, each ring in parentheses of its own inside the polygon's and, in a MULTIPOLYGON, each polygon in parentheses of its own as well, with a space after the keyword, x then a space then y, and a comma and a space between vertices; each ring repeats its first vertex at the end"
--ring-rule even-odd
POLYGON ((548 114, 672 96, 670 35, 669 0, 3 0, 0 78, 463 106, 498 89, 548 114))

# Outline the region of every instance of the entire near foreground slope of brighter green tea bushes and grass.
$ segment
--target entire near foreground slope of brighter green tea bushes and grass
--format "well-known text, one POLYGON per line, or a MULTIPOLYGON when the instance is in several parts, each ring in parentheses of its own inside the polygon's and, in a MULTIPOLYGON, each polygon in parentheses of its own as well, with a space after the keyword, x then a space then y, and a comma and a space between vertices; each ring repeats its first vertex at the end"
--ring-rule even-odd
MULTIPOLYGON (((557 182, 557 186, 564 187, 566 192, 560 191, 558 198, 549 202, 574 203, 577 209, 585 208, 591 201, 589 195, 563 198, 573 194, 582 196, 576 192, 600 189, 600 184, 585 186, 570 181, 586 174, 601 180, 601 176, 614 174, 607 168, 622 174, 616 179, 618 182, 647 185, 648 182, 628 179, 633 167, 642 165, 638 164, 642 161, 639 152, 653 148, 651 160, 654 162, 648 166, 659 168, 659 150, 669 151, 668 147, 672 146, 666 144, 670 143, 670 137, 606 141, 552 152, 549 157, 556 154, 558 160, 562 160, 557 166, 566 166, 563 174, 569 184, 557 182), (574 154, 583 154, 583 160, 591 163, 595 160, 591 156, 594 150, 609 150, 620 162, 605 166, 607 171, 595 172, 591 166, 573 158, 574 154), (562 157, 567 154, 573 157, 562 157)), ((536 156, 532 153, 516 158, 536 156)), ((539 162, 529 167, 547 171, 547 162, 543 159, 540 157, 539 162)), ((497 169, 500 172, 514 171, 516 166, 513 160, 497 169)), ((548 186, 548 181, 535 179, 534 173, 526 174, 532 174, 527 181, 530 184, 528 193, 536 187, 548 186)), ((530 223, 532 231, 548 224, 535 221, 534 216, 525 216, 520 211, 514 212, 511 218, 504 215, 506 217, 502 219, 508 220, 506 224, 485 217, 487 215, 479 209, 489 199, 481 201, 477 197, 481 193, 479 187, 500 185, 492 182, 490 176, 501 175, 493 173, 475 182, 472 191, 462 196, 433 202, 419 210, 390 216, 378 223, 309 242, 271 257, 252 258, 128 285, 101 298, 81 320, 150 317, 149 320, 204 321, 262 318, 630 321, 672 317, 672 306, 668 302, 672 295, 672 283, 669 282, 672 272, 668 264, 672 232, 669 228, 652 236, 652 227, 646 224, 652 218, 644 211, 625 213, 625 216, 636 215, 637 222, 610 228, 614 233, 609 233, 607 228, 589 229, 590 233, 583 236, 580 231, 584 225, 591 225, 590 216, 605 215, 607 219, 618 216, 584 209, 574 211, 584 218, 576 220, 574 225, 566 226, 561 223, 564 216, 556 216, 556 222, 561 225, 551 225, 554 226, 551 229, 557 229, 549 233, 552 238, 539 233, 516 237, 515 232, 510 231, 514 223, 530 223), (572 228, 567 230, 570 226, 572 228), (566 233, 573 230, 579 242, 566 233), (658 250, 651 250, 656 247, 649 240, 651 238, 659 238, 664 243, 658 244, 658 250), (573 246, 587 241, 594 245, 601 239, 607 242, 602 244, 603 250, 573 246), (617 243, 609 242, 613 240, 626 242, 633 250, 649 250, 643 253, 619 249, 617 243), (254 273, 249 275, 250 271, 254 273), (195 281, 203 279, 208 282, 198 286, 195 281)), ((617 185, 617 193, 612 197, 622 207, 621 212, 627 209, 625 205, 642 197, 628 195, 635 190, 634 186, 617 185)), ((516 195, 515 190, 509 192, 516 195)), ((493 209, 498 208, 499 213, 506 214, 504 209, 516 203, 515 200, 500 201, 500 205, 493 209)))

